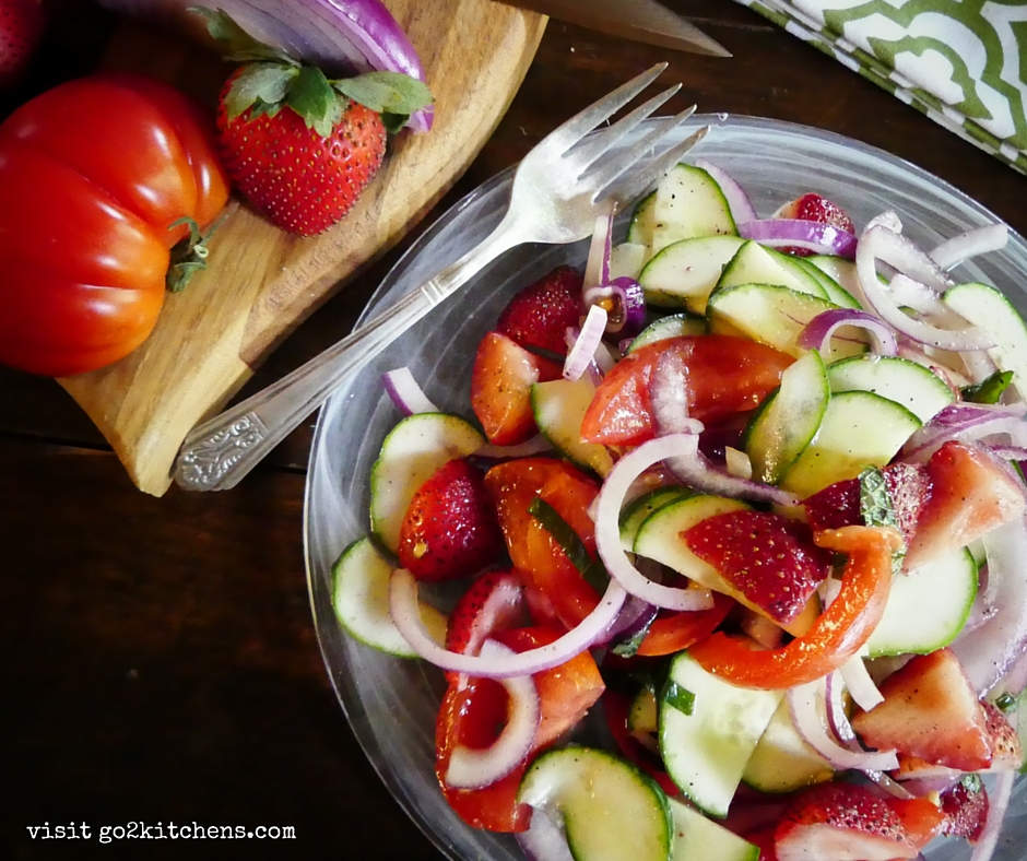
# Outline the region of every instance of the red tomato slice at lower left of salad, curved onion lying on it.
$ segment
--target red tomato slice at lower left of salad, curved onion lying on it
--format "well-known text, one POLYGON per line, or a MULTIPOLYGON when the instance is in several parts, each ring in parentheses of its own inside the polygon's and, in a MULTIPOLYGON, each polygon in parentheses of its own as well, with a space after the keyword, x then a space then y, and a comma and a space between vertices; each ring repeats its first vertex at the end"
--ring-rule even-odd
MULTIPOLYGON (((496 639, 517 651, 544 646, 562 632, 554 628, 510 628, 496 639)), ((509 775, 481 789, 452 789, 444 776, 457 744, 482 748, 492 744, 507 719, 509 698, 503 685, 491 679, 471 679, 459 691, 450 685, 439 708, 435 731, 435 772, 442 794, 461 819, 491 831, 522 831, 530 807, 518 805, 517 789, 534 753, 552 744, 580 721, 604 691, 599 668, 589 652, 535 675, 542 719, 532 754, 509 775)))

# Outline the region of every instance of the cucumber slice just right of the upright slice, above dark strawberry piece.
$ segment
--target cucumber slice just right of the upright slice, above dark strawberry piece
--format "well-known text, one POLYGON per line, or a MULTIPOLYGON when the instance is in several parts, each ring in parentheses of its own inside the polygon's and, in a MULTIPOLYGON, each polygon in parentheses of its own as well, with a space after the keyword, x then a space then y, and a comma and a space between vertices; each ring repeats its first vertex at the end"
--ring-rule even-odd
POLYGON ((886 465, 920 427, 920 420, 909 410, 880 394, 833 394, 821 429, 779 484, 805 498, 835 482, 854 479, 866 467, 886 465))

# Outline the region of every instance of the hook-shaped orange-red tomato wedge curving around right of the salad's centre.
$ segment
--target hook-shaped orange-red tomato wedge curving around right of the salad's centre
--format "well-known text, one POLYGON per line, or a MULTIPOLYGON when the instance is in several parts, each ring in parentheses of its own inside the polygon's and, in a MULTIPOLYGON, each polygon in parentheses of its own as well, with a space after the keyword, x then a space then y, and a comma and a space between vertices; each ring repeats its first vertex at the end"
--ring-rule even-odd
POLYGON ((792 687, 837 670, 860 650, 884 614, 892 554, 902 539, 894 529, 853 526, 823 530, 815 540, 848 559, 838 597, 813 627, 787 646, 767 650, 716 632, 689 650, 704 669, 742 687, 792 687))

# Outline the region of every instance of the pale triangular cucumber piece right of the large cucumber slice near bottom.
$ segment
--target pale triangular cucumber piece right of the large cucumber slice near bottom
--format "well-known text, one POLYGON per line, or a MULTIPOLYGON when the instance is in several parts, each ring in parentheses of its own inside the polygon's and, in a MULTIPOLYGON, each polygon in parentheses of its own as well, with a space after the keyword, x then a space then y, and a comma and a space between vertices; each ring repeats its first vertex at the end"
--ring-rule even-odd
POLYGON ((834 775, 830 763, 799 734, 788 700, 782 699, 745 764, 742 781, 760 792, 793 792, 830 780, 834 775))

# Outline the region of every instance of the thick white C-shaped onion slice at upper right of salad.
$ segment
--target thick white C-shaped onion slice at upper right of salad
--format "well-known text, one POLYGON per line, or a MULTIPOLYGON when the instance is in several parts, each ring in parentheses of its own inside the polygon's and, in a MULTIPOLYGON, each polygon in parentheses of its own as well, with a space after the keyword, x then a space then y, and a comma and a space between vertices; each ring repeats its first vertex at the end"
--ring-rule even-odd
POLYGON ((979 326, 968 325, 956 331, 941 329, 907 316, 877 279, 877 260, 894 266, 902 274, 928 286, 937 283, 943 285, 939 288, 944 288, 948 281, 944 273, 940 273, 934 261, 905 236, 882 226, 865 231, 860 237, 855 252, 857 276, 872 310, 896 331, 919 343, 959 353, 967 350, 988 350, 995 345, 991 334, 979 326), (930 279, 935 279, 935 282, 932 283, 930 279))

